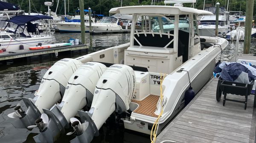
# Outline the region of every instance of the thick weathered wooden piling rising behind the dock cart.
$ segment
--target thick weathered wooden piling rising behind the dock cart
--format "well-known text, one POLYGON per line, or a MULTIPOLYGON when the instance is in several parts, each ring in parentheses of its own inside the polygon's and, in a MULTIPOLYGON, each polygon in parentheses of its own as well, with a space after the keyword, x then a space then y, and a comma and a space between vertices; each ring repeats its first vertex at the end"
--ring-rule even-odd
POLYGON ((250 53, 251 33, 253 24, 253 1, 246 0, 246 19, 244 28, 244 53, 250 53))

